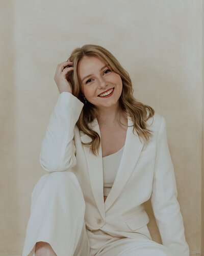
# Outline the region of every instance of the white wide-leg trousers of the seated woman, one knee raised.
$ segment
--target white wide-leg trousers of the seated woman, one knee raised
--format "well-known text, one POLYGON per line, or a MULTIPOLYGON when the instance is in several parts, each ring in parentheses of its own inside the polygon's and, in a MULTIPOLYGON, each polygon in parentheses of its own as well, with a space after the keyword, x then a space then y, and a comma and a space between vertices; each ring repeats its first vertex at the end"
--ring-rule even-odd
POLYGON ((57 256, 172 256, 168 248, 149 239, 91 232, 84 214, 84 196, 73 173, 43 175, 33 189, 22 256, 35 256, 39 241, 49 243, 57 256))

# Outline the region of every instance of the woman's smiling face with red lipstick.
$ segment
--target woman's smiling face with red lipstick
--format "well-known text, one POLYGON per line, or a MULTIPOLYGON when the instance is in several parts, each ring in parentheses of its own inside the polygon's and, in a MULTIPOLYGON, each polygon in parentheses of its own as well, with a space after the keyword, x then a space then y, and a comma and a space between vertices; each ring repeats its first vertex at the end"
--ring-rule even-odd
POLYGON ((97 109, 118 105, 122 92, 121 77, 99 58, 84 56, 78 63, 78 76, 85 98, 97 109), (104 95, 107 90, 109 95, 104 95))

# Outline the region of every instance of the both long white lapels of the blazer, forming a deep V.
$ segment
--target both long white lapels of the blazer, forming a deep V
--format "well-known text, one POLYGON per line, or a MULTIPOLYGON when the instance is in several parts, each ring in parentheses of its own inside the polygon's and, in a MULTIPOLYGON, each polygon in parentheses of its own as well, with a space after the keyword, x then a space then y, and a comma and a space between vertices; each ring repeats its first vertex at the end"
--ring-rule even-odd
MULTIPOLYGON (((133 121, 129 116, 127 116, 127 124, 129 126, 133 125, 133 121)), ((100 136, 100 129, 96 118, 90 123, 90 126, 100 136)), ((90 142, 91 138, 88 135, 82 133, 81 140, 83 142, 90 142)), ((139 159, 143 145, 144 142, 139 140, 137 132, 134 131, 133 134, 133 126, 127 127, 125 144, 118 172, 105 203, 101 144, 99 146, 99 156, 94 156, 92 153, 89 152, 90 146, 83 145, 89 169, 89 178, 93 197, 95 199, 98 210, 100 211, 101 217, 105 218, 105 212, 117 199, 127 180, 130 178, 133 169, 139 159)))

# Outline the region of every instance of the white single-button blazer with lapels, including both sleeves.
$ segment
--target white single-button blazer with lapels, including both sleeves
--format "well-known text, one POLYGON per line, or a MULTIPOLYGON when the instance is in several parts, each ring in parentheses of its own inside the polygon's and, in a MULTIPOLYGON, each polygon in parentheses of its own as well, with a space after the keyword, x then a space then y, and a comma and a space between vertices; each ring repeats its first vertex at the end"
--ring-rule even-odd
MULTIPOLYGON (((82 145, 91 138, 76 125, 84 104, 71 93, 59 95, 41 145, 40 164, 47 172, 73 172, 81 185, 86 203, 85 223, 89 230, 101 229, 113 236, 151 239, 148 215, 143 203, 151 205, 162 243, 173 255, 189 256, 183 218, 177 201, 174 168, 166 135, 165 119, 155 113, 148 119, 153 136, 140 142, 133 127, 127 127, 117 176, 104 203, 103 159, 82 145)), ((128 117, 128 125, 133 122, 128 117)), ((90 126, 100 136, 95 118, 90 126)))

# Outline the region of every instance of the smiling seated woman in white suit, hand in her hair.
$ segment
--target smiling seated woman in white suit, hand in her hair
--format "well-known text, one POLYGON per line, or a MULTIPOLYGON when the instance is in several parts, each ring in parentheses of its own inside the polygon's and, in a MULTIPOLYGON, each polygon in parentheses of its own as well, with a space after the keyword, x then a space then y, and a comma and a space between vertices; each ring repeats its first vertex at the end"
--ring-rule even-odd
POLYGON ((165 120, 133 96, 106 49, 60 63, 60 96, 42 141, 25 255, 189 255, 165 120), (151 197, 163 245, 152 241, 151 197))

